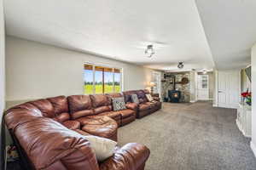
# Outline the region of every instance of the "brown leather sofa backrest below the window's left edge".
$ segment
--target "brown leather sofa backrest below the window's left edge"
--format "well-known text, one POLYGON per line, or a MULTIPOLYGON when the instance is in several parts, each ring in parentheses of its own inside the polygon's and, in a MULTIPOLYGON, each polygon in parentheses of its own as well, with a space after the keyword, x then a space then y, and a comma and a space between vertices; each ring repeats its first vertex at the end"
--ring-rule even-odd
POLYGON ((72 95, 67 97, 72 119, 94 115, 89 95, 72 95))

